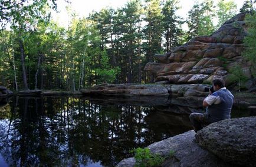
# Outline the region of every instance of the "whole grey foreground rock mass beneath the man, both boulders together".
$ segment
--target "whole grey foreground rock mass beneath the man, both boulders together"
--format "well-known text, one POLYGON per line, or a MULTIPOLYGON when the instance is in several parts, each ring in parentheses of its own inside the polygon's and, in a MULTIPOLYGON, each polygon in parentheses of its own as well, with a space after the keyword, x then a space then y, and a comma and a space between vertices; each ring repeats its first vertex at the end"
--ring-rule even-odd
MULTIPOLYGON (((147 146, 166 157, 161 166, 255 166, 256 117, 226 119, 206 126, 198 133, 188 131, 147 146), (173 156, 169 155, 174 151, 173 156)), ((134 166, 134 158, 117 166, 134 166)))

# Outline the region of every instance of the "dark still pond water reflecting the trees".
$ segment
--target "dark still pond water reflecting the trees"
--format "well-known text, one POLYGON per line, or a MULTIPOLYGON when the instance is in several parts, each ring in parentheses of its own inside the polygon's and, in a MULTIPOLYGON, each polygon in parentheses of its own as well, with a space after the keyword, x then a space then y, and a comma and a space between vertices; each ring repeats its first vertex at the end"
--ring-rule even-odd
POLYGON ((0 107, 0 166, 114 166, 191 130, 193 109, 169 98, 13 97, 0 107))

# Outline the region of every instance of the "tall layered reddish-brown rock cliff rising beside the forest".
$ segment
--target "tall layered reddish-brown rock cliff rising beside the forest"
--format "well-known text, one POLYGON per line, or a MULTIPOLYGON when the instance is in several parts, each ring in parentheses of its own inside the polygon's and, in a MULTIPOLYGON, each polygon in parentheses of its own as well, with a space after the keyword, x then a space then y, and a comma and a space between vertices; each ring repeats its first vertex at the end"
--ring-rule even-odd
POLYGON ((145 70, 155 75, 156 83, 165 84, 202 84, 222 78, 231 85, 229 71, 236 65, 251 78, 251 64, 241 56, 247 35, 245 14, 229 19, 211 36, 196 36, 165 55, 155 55, 158 63, 147 63, 145 70))

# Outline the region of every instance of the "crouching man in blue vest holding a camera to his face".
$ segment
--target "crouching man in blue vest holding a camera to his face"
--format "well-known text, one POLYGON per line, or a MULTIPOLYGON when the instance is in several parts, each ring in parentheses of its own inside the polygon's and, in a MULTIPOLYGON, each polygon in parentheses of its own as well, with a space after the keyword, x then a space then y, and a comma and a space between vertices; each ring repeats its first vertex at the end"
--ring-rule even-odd
POLYGON ((201 130, 204 126, 223 119, 229 119, 231 108, 234 102, 234 96, 225 88, 225 82, 222 79, 212 81, 215 92, 204 99, 203 106, 207 107, 205 113, 191 113, 189 119, 195 129, 195 132, 201 130))

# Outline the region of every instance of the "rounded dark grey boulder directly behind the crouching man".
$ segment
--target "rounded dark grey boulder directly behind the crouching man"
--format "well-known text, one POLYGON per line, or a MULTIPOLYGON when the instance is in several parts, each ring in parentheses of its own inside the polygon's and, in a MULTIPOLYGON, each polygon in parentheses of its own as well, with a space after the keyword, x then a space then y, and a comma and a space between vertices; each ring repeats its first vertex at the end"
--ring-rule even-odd
POLYGON ((196 133, 196 141, 224 161, 242 166, 255 166, 256 117, 212 123, 196 133))

